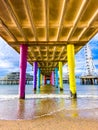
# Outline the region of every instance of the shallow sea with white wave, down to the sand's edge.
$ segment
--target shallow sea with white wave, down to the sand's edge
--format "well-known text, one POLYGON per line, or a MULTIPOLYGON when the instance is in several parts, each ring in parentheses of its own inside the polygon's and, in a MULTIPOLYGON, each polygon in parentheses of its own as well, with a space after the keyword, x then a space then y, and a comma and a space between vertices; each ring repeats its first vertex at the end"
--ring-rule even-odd
MULTIPOLYGON (((25 100, 19 100, 18 85, 0 85, 0 119, 34 119, 65 110, 97 109, 98 85, 81 85, 80 80, 76 84, 76 100, 70 98, 69 84, 64 84, 64 91, 58 88, 51 93, 34 92, 33 85, 26 85, 25 100)), ((94 117, 98 118, 97 113, 94 117)))

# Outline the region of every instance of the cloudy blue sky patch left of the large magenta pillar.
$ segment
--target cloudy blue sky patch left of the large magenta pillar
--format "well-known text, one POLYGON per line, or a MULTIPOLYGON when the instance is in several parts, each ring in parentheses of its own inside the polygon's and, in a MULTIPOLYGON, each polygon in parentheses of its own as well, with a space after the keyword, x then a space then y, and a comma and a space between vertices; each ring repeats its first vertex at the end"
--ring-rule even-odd
POLYGON ((19 54, 0 38, 0 69, 14 68, 19 64, 19 54))

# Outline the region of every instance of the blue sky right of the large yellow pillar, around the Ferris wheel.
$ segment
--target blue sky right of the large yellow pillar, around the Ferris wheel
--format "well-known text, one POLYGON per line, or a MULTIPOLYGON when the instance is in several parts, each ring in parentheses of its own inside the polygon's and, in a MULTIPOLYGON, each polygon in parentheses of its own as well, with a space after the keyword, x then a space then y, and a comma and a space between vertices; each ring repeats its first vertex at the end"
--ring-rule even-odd
MULTIPOLYGON (((98 73, 98 33, 87 43, 90 46, 95 73, 98 73)), ((85 53, 84 47, 76 54, 76 74, 82 75, 85 73, 85 53)))

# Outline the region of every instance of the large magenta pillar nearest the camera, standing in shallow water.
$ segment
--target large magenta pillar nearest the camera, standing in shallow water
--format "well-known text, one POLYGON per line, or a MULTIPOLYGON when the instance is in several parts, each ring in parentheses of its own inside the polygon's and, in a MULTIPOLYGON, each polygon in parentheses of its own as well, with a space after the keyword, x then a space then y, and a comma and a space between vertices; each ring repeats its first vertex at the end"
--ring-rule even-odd
POLYGON ((27 45, 20 45, 20 80, 19 80, 19 98, 25 98, 26 67, 27 67, 27 45))

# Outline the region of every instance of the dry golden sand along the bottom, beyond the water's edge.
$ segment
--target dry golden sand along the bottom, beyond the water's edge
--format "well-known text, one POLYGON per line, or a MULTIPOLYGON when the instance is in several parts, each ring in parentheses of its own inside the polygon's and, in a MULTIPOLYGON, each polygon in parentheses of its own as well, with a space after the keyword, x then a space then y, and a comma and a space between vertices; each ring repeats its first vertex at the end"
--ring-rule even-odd
POLYGON ((0 130, 98 130, 97 119, 62 114, 64 111, 33 120, 0 120, 0 130))

